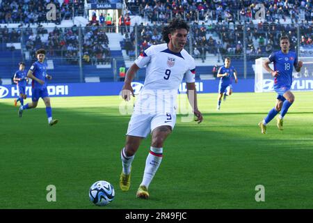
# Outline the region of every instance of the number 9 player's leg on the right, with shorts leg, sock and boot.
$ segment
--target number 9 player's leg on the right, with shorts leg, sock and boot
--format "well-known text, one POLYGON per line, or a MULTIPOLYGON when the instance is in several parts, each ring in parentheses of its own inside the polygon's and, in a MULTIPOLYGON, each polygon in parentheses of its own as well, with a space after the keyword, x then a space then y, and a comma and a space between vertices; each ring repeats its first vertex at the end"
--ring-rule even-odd
POLYGON ((152 142, 150 152, 145 161, 145 171, 143 174, 143 181, 138 188, 136 196, 147 199, 149 193, 147 191, 154 175, 159 169, 163 157, 163 144, 168 135, 172 132, 175 126, 176 114, 155 116, 151 122, 152 142), (164 123, 166 122, 166 125, 164 123))

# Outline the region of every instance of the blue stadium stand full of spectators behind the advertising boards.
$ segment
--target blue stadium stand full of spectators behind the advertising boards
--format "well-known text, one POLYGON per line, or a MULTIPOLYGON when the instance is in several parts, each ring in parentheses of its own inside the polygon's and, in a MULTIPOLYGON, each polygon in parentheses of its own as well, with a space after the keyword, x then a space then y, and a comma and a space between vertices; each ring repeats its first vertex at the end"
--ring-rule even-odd
MULTIPOLYGON (((52 82, 116 81, 120 66, 129 68, 141 51, 162 43, 162 26, 172 17, 191 25, 186 50, 195 57, 197 79, 215 78, 212 70, 225 56, 239 78, 254 77, 255 59, 279 49, 282 35, 290 36, 292 49, 312 56, 312 8, 304 0, 2 0, 0 78, 10 79, 19 61, 29 68, 35 50, 44 47, 52 82), (49 3, 56 6, 53 22, 44 13, 49 3), (89 20, 91 3, 122 3, 119 26, 106 26, 96 15, 89 20), (255 19, 260 5, 264 20, 255 19)), ((136 76, 144 77, 145 69, 136 76)))

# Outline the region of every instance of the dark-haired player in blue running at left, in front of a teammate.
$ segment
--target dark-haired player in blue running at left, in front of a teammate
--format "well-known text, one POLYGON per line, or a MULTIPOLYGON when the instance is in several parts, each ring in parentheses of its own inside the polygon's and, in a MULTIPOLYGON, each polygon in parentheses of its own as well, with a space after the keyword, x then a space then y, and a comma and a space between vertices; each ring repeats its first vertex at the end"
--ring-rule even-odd
POLYGON ((48 123, 51 126, 58 123, 58 120, 52 119, 52 109, 50 105, 49 93, 47 90, 48 79, 52 79, 52 77, 51 75, 47 74, 47 63, 45 62, 45 54, 45 49, 38 49, 36 51, 38 61, 35 61, 35 63, 33 63, 31 68, 29 69, 29 72, 27 73, 27 77, 33 80, 31 83, 32 102, 19 107, 19 117, 22 117, 23 111, 25 109, 32 109, 37 107, 39 98, 42 98, 46 105, 48 123))

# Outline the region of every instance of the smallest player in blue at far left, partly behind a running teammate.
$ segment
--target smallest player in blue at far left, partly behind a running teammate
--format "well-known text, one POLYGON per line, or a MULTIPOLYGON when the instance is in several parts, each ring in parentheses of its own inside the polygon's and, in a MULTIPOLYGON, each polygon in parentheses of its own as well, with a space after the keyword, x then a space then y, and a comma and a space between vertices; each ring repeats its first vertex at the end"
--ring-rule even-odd
POLYGON ((13 81, 17 84, 17 89, 19 89, 19 98, 14 100, 14 105, 17 106, 17 102, 20 102, 21 105, 24 105, 24 99, 26 99, 26 85, 29 82, 25 70, 25 63, 19 63, 19 70, 15 72, 13 81))

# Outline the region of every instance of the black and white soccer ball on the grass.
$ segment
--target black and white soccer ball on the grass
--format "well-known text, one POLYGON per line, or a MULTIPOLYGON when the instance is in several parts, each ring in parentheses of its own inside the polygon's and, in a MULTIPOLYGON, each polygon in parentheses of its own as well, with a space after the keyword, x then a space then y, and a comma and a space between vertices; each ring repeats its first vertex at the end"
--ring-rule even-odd
POLYGON ((115 191, 111 183, 104 180, 99 180, 89 189, 89 199, 95 203, 96 206, 106 206, 113 201, 115 191))

